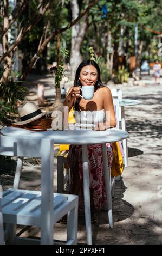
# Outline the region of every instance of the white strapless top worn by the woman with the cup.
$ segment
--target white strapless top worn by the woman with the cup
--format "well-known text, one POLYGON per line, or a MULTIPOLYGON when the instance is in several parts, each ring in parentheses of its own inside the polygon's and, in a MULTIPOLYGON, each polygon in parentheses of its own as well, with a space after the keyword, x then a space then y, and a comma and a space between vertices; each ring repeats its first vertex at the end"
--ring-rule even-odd
POLYGON ((104 109, 96 111, 75 111, 75 120, 76 123, 88 123, 96 124, 105 122, 105 111, 104 109))

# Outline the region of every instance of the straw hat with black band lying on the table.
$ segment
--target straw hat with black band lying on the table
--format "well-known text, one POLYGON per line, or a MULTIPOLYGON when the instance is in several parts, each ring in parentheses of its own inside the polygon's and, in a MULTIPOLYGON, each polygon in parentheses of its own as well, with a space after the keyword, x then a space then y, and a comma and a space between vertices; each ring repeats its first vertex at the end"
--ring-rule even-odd
POLYGON ((20 117, 20 122, 14 123, 14 125, 24 125, 28 124, 32 121, 35 121, 41 118, 43 115, 47 113, 42 113, 41 109, 36 105, 35 102, 29 101, 26 102, 18 108, 18 115, 20 117))

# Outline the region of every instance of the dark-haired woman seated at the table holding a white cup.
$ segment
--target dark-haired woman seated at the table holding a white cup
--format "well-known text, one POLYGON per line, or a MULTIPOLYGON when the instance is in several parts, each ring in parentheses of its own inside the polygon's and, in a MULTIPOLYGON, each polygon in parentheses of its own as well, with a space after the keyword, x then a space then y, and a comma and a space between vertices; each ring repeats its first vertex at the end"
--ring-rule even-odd
MULTIPOLYGON (((116 119, 113 107, 111 90, 105 87, 100 78, 99 65, 93 60, 82 62, 76 70, 74 86, 68 91, 64 106, 69 107, 69 111, 74 107, 75 111, 83 114, 83 123, 89 123, 86 119, 87 111, 95 112, 94 130, 103 131, 109 127, 116 126, 116 119), (94 86, 94 95, 91 100, 85 100, 81 93, 81 87, 94 86), (85 120, 86 119, 86 120, 85 120)), ((77 119, 79 116, 76 115, 77 119)), ((88 115, 89 117, 89 115, 88 115)), ((92 119, 90 120, 92 121, 92 119)), ((79 120, 76 120, 79 123, 79 120)), ((107 157, 109 167, 111 166, 112 144, 107 143, 107 157)), ((81 208, 81 198, 83 198, 83 172, 81 145, 71 145, 68 154, 68 165, 71 172, 70 193, 79 195, 79 206, 81 208)), ((104 183, 102 149, 101 144, 88 145, 89 162, 89 184, 90 184, 90 209, 92 223, 98 223, 95 210, 101 209, 102 204, 106 204, 106 188, 104 183)))

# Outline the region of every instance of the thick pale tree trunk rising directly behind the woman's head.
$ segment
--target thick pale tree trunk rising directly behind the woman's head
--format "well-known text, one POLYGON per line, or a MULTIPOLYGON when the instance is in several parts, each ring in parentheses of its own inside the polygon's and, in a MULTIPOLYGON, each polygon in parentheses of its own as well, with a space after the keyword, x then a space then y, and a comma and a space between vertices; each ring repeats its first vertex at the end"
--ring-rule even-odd
MULTIPOLYGON (((86 1, 87 4, 89 3, 89 0, 86 1)), ((71 9, 72 9, 72 18, 73 20, 76 19, 77 16, 79 16, 79 5, 77 4, 76 0, 70 0, 71 9)), ((82 56, 80 53, 81 44, 83 41, 83 38, 86 33, 87 29, 87 14, 83 17, 83 21, 81 25, 79 23, 76 23, 72 27, 72 40, 71 40, 71 53, 70 53, 70 77, 72 80, 74 80, 75 72, 77 69, 77 66, 82 62, 82 56)))

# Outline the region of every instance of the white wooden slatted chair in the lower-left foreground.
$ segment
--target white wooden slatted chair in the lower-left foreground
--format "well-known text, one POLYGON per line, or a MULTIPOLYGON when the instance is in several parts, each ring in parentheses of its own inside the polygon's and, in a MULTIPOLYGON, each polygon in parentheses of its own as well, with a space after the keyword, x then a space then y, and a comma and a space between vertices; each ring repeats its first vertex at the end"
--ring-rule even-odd
MULTIPOLYGON (((14 138, 16 142, 13 144, 13 140, 8 136, 2 136, 1 138, 1 153, 0 155, 14 155, 14 156, 35 156, 43 157, 43 172, 41 173, 41 191, 29 191, 29 190, 19 190, 17 188, 9 188, 3 192, 2 198, 2 212, 3 212, 3 222, 6 223, 6 229, 8 233, 7 243, 27 243, 27 244, 47 244, 52 243, 51 237, 53 236, 53 225, 59 221, 64 215, 68 214, 67 218, 67 242, 66 244, 76 244, 77 243, 77 208, 78 208, 78 198, 72 194, 58 194, 52 193, 51 188, 53 186, 53 163, 50 162, 50 166, 47 164, 48 159, 53 157, 53 143, 47 141, 46 139, 41 142, 40 146, 35 145, 31 142, 31 148, 24 149, 23 145, 18 144, 18 139, 14 138), (4 147, 4 145, 7 147, 4 147), (33 147, 32 147, 33 146, 33 147), (48 150, 47 150, 48 146, 48 150), (37 148, 35 151, 34 147, 37 148), (40 153, 38 152, 40 148, 40 153), (47 153, 44 152, 46 148, 47 153), (34 153, 36 155, 34 155, 34 153), (50 155, 50 156, 48 156, 50 155), (46 166, 44 166, 46 163, 46 166), (50 173, 47 176, 47 171, 49 168, 50 173), (49 176, 51 179, 49 179, 49 176), (45 196, 52 196, 51 201, 44 200, 45 196), (51 208, 51 202, 53 202, 53 208, 51 208), (49 205, 50 204, 50 205, 49 205), (47 210, 49 209, 49 211, 47 210), (49 222, 51 214, 51 224, 49 222), (24 239, 22 237, 16 236, 16 225, 34 225, 36 227, 41 227, 41 240, 36 239, 24 239), (43 234, 43 236, 42 236, 43 234), (46 243, 47 242, 47 243, 46 243)), ((24 145, 28 145, 28 140, 24 139, 24 145)), ((1 210, 1 209, 0 209, 1 210)), ((0 211, 1 212, 1 211, 0 211)), ((2 217, 2 215, 0 215, 2 217)), ((2 222, 2 221, 1 221, 2 222)), ((6 236, 7 237, 7 236, 6 236)), ((3 242, 3 240, 2 240, 3 242)))

